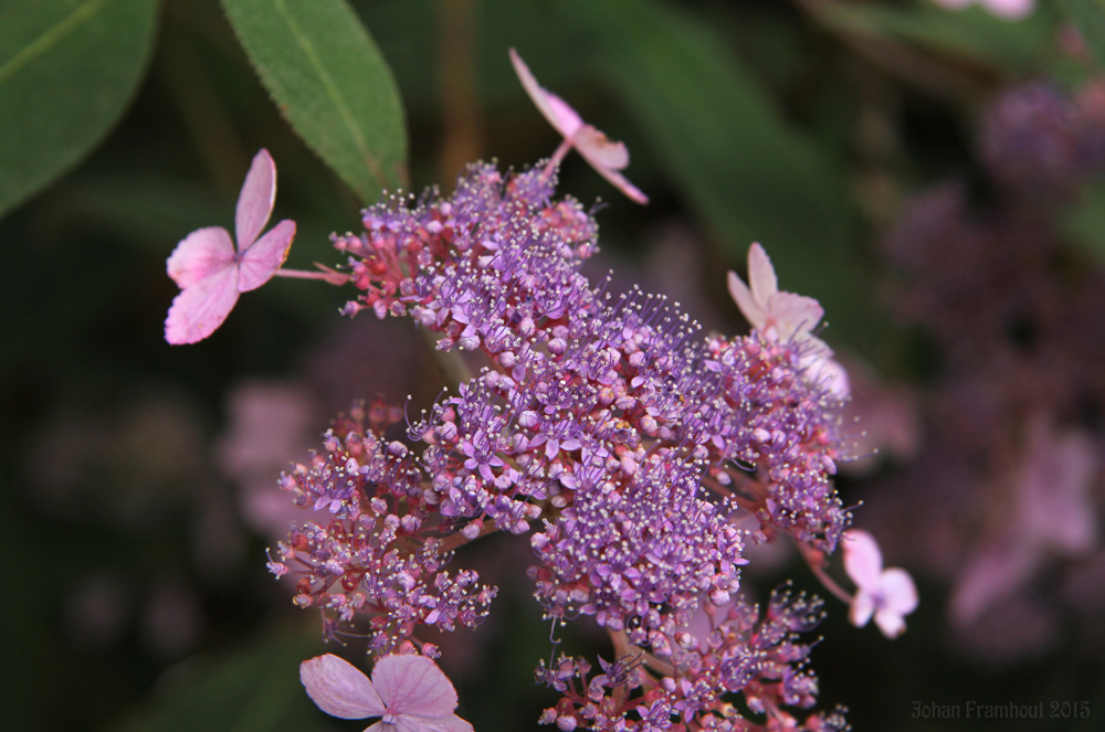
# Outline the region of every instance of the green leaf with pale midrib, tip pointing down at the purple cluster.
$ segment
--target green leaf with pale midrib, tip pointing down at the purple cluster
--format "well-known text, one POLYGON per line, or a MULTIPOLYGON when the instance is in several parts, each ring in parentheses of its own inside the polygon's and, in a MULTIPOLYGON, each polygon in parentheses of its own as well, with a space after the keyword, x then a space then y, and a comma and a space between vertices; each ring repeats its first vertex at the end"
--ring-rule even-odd
POLYGON ((391 68, 344 0, 223 0, 265 88, 303 140, 364 203, 407 184, 391 68))

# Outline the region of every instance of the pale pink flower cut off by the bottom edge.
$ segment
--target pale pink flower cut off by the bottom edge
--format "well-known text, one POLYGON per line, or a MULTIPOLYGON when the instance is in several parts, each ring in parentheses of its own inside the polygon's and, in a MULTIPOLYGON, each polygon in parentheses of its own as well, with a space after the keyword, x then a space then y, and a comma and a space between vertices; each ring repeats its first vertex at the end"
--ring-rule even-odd
POLYGON ((327 714, 383 718, 365 732, 472 732, 453 713, 456 690, 449 677, 424 656, 385 656, 369 680, 352 664, 326 654, 303 661, 299 680, 327 714))

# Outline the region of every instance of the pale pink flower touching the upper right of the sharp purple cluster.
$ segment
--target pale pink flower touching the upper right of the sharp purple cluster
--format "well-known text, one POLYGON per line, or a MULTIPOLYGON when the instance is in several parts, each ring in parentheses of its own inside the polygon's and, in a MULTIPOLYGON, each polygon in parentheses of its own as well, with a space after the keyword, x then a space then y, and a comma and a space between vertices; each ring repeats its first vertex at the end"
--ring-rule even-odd
POLYGON ((846 397, 848 372, 833 360, 832 349, 812 332, 824 315, 821 304, 812 297, 780 291, 771 259, 758 242, 748 250, 748 283, 729 273, 729 295, 749 325, 765 335, 774 332, 780 340, 801 342, 806 374, 824 382, 836 396, 846 397))

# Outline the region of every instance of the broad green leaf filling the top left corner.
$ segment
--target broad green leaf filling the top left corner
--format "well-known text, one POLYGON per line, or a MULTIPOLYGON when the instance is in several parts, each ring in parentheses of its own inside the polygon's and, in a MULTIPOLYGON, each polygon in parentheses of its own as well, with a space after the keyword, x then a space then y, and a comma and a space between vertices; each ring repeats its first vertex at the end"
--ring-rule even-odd
POLYGON ((149 60, 157 0, 0 3, 0 215, 107 134, 149 60))

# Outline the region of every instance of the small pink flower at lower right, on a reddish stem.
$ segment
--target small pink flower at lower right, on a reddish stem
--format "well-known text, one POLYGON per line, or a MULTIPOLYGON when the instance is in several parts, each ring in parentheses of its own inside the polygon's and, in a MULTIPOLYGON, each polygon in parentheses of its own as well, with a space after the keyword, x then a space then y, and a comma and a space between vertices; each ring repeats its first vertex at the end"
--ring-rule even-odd
POLYGON ((863 627, 875 616, 875 625, 887 638, 905 630, 905 616, 917 608, 917 587, 905 570, 883 569, 878 543, 866 531, 844 532, 844 571, 855 583, 855 595, 849 611, 852 625, 863 627))

